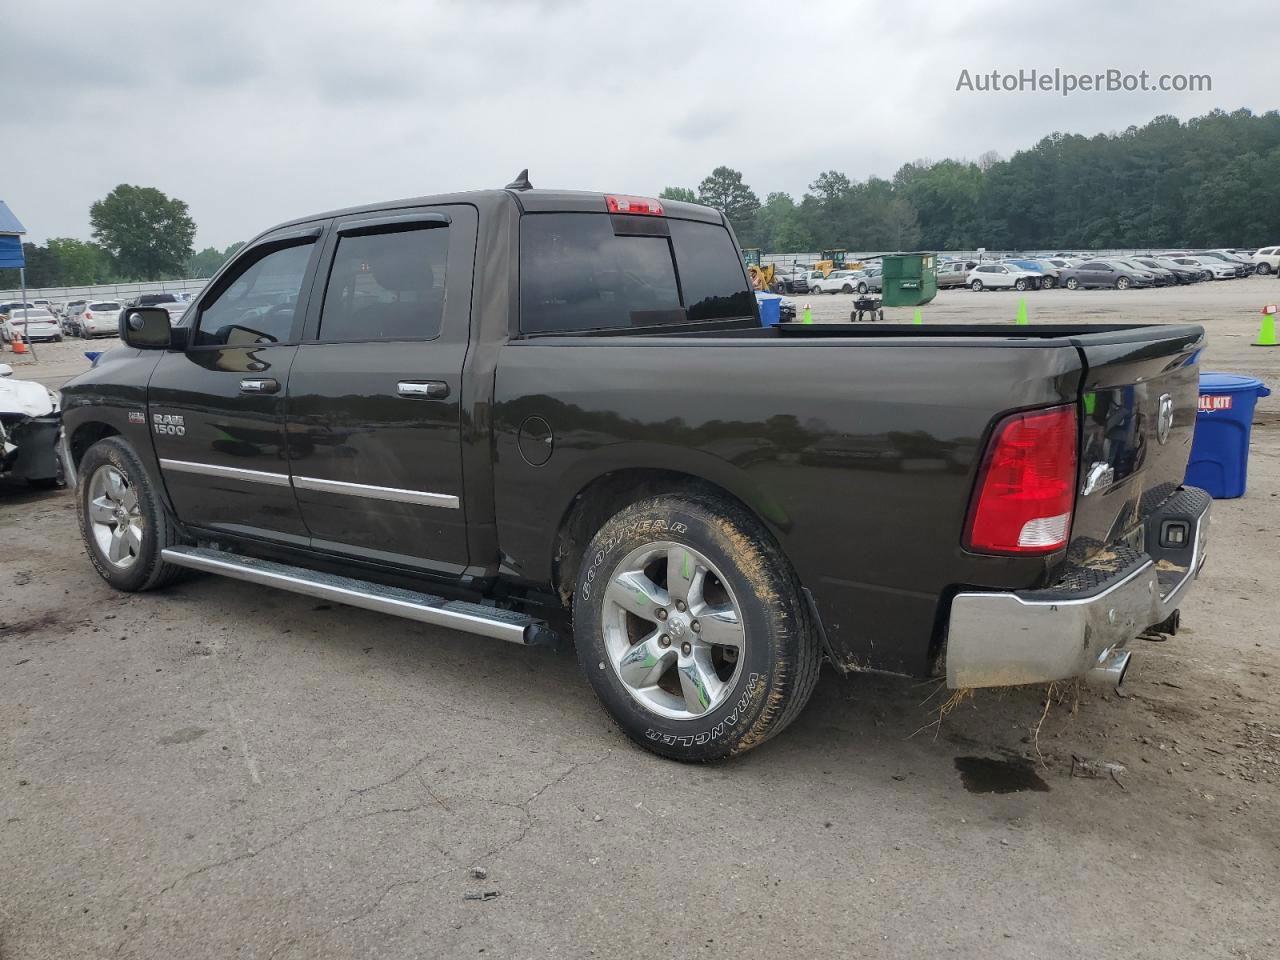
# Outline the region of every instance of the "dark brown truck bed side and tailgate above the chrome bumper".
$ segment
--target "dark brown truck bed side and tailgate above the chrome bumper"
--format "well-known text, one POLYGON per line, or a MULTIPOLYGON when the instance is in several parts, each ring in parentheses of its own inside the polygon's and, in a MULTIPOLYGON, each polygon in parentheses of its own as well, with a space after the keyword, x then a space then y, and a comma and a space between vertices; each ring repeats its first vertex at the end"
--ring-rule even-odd
POLYGON ((1196 325, 836 324, 536 337, 503 347, 495 378, 495 515, 518 568, 552 577, 544 520, 602 475, 705 479, 769 525, 842 666, 928 672, 906 637, 937 636, 965 588, 1039 589, 1140 529, 1181 481, 1196 417, 1196 325), (760 355, 753 347, 771 347, 760 355), (963 348, 963 351, 961 351, 963 348), (1161 398, 1176 398, 1165 443, 1161 398), (1010 411, 1078 404, 1082 470, 1068 550, 964 550, 980 456, 1010 411), (520 425, 556 428, 554 470, 530 466, 520 425))

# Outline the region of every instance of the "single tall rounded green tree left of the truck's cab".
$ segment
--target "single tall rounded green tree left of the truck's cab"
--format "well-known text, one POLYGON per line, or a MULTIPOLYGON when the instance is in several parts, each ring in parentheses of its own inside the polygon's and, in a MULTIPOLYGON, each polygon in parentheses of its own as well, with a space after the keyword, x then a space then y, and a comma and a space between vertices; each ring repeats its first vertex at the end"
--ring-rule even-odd
POLYGON ((90 207, 93 238, 125 279, 165 280, 186 273, 196 221, 187 205, 155 187, 122 183, 90 207))

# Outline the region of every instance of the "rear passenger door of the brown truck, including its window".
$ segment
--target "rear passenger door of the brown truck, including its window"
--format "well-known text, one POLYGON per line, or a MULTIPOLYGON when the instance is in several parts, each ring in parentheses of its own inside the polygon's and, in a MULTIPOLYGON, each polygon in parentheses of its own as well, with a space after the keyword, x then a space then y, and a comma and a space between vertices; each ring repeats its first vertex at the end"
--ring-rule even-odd
POLYGON ((289 457, 317 549, 444 576, 467 563, 462 365, 476 209, 337 220, 289 378, 289 457))

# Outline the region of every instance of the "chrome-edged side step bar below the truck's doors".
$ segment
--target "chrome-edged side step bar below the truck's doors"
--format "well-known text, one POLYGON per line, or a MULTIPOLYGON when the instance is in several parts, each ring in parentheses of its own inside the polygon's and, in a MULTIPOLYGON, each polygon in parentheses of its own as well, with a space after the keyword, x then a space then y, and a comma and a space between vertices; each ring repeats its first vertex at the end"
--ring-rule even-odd
POLYGON ((416 620, 452 627, 466 634, 479 634, 494 640, 507 640, 526 646, 549 646, 556 634, 547 623, 515 611, 486 607, 465 600, 447 600, 443 596, 402 590, 396 586, 371 584, 367 580, 321 573, 306 567, 241 557, 207 547, 168 547, 160 552, 166 563, 189 567, 206 573, 219 573, 234 580, 274 586, 296 594, 306 594, 320 600, 344 603, 366 611, 389 613, 393 617, 416 620))

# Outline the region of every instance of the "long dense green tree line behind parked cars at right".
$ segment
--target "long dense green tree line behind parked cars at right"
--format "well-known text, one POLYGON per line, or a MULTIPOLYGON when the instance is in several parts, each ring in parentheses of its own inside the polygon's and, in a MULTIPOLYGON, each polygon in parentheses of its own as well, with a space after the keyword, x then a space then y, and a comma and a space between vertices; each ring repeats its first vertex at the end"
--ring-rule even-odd
POLYGON ((1157 116, 1052 133, 1005 160, 916 160, 892 179, 826 170, 762 204, 728 166, 662 196, 723 210, 745 247, 887 250, 1257 247, 1280 242, 1280 113, 1157 116))

